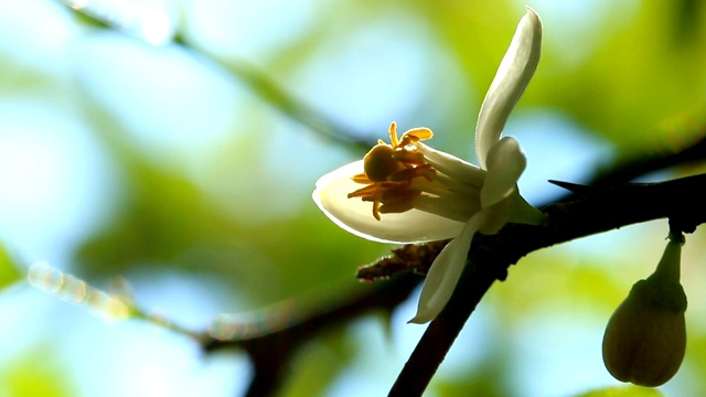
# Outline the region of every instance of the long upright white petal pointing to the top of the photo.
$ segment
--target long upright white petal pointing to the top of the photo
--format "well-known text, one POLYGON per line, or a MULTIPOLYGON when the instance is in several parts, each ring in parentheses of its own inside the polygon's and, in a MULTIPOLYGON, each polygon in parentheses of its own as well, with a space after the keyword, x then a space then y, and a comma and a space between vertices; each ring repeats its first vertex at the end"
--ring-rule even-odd
POLYGON ((485 169, 489 150, 500 139, 510 112, 537 68, 541 51, 542 21, 527 7, 478 116, 475 153, 482 169, 485 169))

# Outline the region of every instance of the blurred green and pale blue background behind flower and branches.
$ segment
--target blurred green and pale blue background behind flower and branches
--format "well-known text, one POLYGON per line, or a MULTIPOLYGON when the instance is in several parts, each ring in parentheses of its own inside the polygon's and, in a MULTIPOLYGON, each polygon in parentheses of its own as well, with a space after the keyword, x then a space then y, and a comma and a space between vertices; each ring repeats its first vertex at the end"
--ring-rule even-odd
MULTIPOLYGON (((314 182, 359 159, 356 141, 385 138, 392 120, 429 127, 434 147, 473 160, 478 109, 525 4, 82 3, 124 8, 105 26, 60 1, 0 1, 1 396, 244 393, 244 353, 205 354, 165 324, 200 332, 221 313, 248 319, 370 288, 355 268, 391 247, 327 219, 314 182), (60 290, 62 280, 73 287, 60 290), (142 315, 125 318, 108 296, 87 301, 90 289, 129 298, 142 315)), ((543 18, 544 53, 505 133, 527 155, 530 202, 563 194, 548 179, 585 182, 706 133, 702 2, 527 3, 543 18)), ((652 222, 524 258, 427 394, 619 386, 601 362, 603 326, 652 272, 666 233, 666 221, 652 222)), ((697 230, 684 247, 688 346, 660 388, 670 396, 706 395, 704 243, 697 230)), ((406 324, 417 293, 392 316, 307 343, 281 395, 386 394, 425 329, 406 324)))

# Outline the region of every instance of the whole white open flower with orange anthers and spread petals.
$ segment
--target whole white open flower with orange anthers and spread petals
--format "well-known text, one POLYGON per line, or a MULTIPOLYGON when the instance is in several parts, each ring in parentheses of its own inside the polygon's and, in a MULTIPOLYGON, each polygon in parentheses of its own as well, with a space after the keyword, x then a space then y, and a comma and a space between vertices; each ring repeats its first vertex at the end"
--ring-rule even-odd
POLYGON ((505 121, 539 62, 542 22, 534 10, 517 25, 485 95, 475 128, 480 168, 437 151, 427 128, 378 141, 363 160, 317 182, 313 200, 329 218, 361 237, 383 243, 453 238, 436 258, 410 322, 426 323, 443 309, 466 265, 477 232, 506 223, 539 224, 544 215, 522 198, 517 180, 526 159, 514 138, 500 138, 505 121))

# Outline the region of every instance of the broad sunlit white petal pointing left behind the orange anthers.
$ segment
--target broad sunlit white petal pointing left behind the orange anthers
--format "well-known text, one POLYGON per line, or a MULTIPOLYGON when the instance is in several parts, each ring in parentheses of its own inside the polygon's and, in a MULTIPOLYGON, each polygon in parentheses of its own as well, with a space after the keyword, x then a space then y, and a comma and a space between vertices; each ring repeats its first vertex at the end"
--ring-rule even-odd
POLYGON ((347 197, 349 193, 363 187, 351 180, 362 172, 363 160, 343 165, 321 176, 312 194, 319 208, 343 229, 370 240, 393 244, 440 240, 461 232, 462 222, 418 210, 382 214, 382 221, 375 219, 373 203, 347 197))

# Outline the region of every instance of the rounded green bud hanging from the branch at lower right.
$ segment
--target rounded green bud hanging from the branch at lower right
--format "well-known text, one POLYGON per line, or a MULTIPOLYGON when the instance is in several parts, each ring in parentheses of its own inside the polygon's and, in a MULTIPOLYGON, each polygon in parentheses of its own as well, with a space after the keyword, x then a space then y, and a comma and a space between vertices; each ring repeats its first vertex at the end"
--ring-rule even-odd
POLYGON ((667 244, 655 272, 638 281, 606 326, 603 363, 619 380, 655 387, 678 371, 686 350, 682 239, 667 244))

